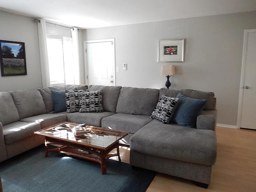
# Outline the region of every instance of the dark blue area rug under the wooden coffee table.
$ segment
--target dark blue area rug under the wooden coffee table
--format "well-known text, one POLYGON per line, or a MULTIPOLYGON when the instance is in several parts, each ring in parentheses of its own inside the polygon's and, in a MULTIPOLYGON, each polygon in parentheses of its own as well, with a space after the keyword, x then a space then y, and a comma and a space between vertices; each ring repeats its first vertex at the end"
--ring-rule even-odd
POLYGON ((96 162, 58 152, 45 158, 43 145, 0 163, 4 192, 145 192, 155 175, 115 160, 102 175, 96 162))

